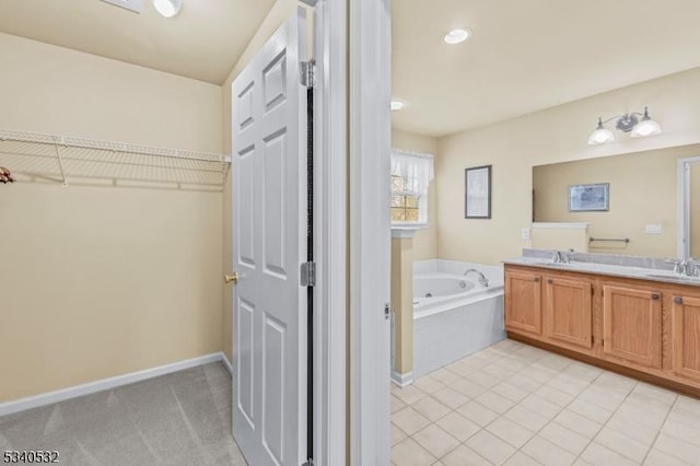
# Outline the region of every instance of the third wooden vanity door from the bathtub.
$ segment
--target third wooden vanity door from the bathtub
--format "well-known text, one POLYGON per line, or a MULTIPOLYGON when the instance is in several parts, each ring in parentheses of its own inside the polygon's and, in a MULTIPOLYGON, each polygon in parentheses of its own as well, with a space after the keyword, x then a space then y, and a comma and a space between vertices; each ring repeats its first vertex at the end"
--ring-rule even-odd
POLYGON ((603 353, 661 368, 661 293, 644 288, 603 287, 603 353))

